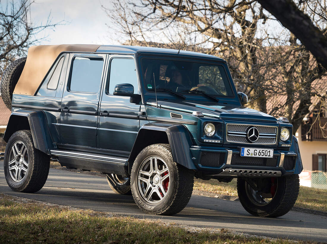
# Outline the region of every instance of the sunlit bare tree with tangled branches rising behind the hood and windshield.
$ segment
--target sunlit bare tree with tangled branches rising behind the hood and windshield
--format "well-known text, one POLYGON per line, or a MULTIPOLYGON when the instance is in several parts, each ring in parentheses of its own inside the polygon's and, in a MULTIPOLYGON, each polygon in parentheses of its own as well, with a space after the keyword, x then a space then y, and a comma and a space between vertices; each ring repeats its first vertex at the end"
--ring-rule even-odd
POLYGON ((272 29, 278 21, 256 1, 115 0, 104 9, 123 42, 224 58, 238 90, 249 95, 250 107, 286 115, 294 133, 326 98, 325 69, 287 29, 272 29))

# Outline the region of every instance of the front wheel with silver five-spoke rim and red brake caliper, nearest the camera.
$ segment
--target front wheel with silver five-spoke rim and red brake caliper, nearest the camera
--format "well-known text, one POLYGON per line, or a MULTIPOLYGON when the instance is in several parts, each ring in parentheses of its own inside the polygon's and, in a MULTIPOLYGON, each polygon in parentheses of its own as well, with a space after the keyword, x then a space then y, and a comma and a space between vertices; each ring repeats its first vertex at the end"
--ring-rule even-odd
POLYGON ((132 167, 133 198, 148 214, 179 213, 191 198, 193 183, 194 172, 174 162, 168 144, 144 148, 132 167))

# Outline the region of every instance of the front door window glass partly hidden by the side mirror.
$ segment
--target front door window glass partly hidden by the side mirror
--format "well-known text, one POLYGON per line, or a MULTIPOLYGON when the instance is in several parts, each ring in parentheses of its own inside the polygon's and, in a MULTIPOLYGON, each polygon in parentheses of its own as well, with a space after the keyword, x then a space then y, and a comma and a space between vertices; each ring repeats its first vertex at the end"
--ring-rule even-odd
POLYGON ((107 92, 112 94, 116 85, 124 83, 132 84, 134 87, 134 94, 138 93, 134 60, 113 58, 110 62, 109 88, 107 92))

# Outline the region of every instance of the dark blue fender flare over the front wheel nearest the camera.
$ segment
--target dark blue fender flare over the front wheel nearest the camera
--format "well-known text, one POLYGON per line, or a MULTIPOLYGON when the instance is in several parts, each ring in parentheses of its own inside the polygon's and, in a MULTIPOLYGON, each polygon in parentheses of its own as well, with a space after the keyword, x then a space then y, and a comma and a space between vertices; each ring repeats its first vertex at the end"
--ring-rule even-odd
MULTIPOLYGON (((131 150, 131 153, 129 155, 129 172, 131 172, 132 164, 134 163, 134 160, 138 153, 144 148, 140 148, 142 146, 142 141, 146 138, 146 135, 151 135, 153 138, 154 132, 164 132, 167 135, 168 143, 171 148, 171 153, 173 156, 173 160, 188 168, 188 169, 194 169, 195 167, 190 147, 194 144, 192 142, 192 137, 190 132, 186 129, 183 125, 176 125, 176 124, 166 124, 166 123, 148 123, 141 127, 139 130, 136 140, 134 142, 133 148, 131 150)), ((155 143, 151 143, 155 144, 155 143)), ((151 144, 143 144, 149 146, 151 144)))

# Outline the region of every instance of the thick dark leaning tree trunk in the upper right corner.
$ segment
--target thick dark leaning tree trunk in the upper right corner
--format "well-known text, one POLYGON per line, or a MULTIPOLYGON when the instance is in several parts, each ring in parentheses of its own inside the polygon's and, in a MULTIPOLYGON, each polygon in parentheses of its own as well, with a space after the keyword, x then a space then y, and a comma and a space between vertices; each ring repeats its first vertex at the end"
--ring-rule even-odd
POLYGON ((327 69, 327 38, 314 26, 308 15, 298 9, 292 0, 257 1, 289 29, 327 69))

